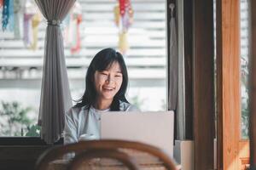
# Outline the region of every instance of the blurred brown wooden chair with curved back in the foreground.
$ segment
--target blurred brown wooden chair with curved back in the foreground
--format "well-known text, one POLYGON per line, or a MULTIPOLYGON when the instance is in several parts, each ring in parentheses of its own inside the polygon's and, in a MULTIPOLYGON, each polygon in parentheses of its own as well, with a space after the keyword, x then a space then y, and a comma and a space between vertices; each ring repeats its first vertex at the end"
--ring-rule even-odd
MULTIPOLYGON (((96 150, 114 150, 115 152, 119 152, 125 154, 126 156, 130 156, 133 159, 137 161, 137 164, 142 167, 143 169, 167 169, 167 170, 176 170, 176 165, 172 161, 172 158, 170 156, 167 156, 162 150, 149 145, 149 144, 143 144, 139 142, 131 142, 131 141, 125 141, 125 140, 113 140, 113 139, 102 139, 102 140, 88 140, 88 141, 81 141, 76 144, 67 144, 63 146, 57 146, 53 149, 46 150, 39 158, 36 163, 36 170, 46 170, 48 169, 49 162, 55 161, 58 159, 62 159, 62 157, 67 153, 75 152, 75 155, 77 156, 73 160, 79 159, 78 163, 82 158, 80 159, 79 154, 85 154, 85 158, 87 159, 87 154, 91 153, 92 151, 96 150), (86 153, 88 151, 88 153, 86 153), (82 153, 83 152, 83 153, 82 153)), ((102 151, 99 151, 102 156, 107 156, 108 153, 103 153, 102 151)), ((96 153, 99 154, 99 153, 96 153)), ((100 154, 99 154, 100 155, 100 154)), ((82 157, 84 155, 81 155, 82 157)), ((89 156, 90 157, 90 156, 89 156)), ((101 157, 101 156, 99 156, 101 157)), ((119 159, 119 161, 121 161, 119 159)), ((63 161, 65 162, 65 161, 63 161)), ((109 161, 103 161, 105 164, 109 164, 109 161)), ((122 161, 121 161, 122 162, 122 161)), ((123 161, 125 162, 125 161, 123 161)), ((133 161, 131 161, 133 162, 133 161)), ((69 162, 68 162, 69 163, 69 162)), ((63 165, 62 167, 66 168, 59 168, 60 170, 67 169, 68 164, 66 161, 66 165, 63 165)), ((65 163, 64 163, 65 164, 65 163)), ((111 164, 111 163, 110 163, 111 164)), ((56 170, 56 168, 53 168, 56 170)), ((102 168, 107 169, 107 168, 102 168)), ((113 168, 116 169, 116 168, 113 168)))

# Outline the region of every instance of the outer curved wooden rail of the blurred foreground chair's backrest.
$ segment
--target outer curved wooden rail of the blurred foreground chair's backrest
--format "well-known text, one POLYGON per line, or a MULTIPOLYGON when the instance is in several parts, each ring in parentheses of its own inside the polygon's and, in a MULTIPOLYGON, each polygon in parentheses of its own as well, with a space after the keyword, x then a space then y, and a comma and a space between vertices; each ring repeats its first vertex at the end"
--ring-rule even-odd
POLYGON ((50 150, 46 150, 36 163, 37 170, 45 170, 50 161, 54 161, 67 153, 75 152, 78 154, 84 150, 119 150, 125 152, 129 156, 135 157, 138 164, 150 164, 151 161, 158 161, 161 166, 166 167, 168 170, 176 170, 176 166, 170 156, 167 156, 162 150, 149 144, 139 142, 131 142, 124 140, 89 140, 80 141, 76 144, 67 144, 63 146, 56 146, 50 150), (137 154, 143 153, 143 154, 137 154), (153 158, 147 155, 154 156, 153 158))

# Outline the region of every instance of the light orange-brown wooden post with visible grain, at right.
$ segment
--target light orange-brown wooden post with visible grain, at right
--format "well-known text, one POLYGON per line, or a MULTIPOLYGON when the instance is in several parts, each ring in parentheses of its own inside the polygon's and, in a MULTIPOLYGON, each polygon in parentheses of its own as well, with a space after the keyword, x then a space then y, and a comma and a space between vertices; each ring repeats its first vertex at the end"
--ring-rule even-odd
POLYGON ((240 1, 217 0, 217 166, 239 169, 240 1))

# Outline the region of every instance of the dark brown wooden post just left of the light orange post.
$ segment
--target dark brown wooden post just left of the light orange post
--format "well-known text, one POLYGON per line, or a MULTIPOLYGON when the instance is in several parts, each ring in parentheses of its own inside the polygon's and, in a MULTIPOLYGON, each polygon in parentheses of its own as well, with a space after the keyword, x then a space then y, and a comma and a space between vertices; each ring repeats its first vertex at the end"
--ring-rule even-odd
POLYGON ((193 112, 195 169, 213 169, 213 1, 193 1, 193 112))

